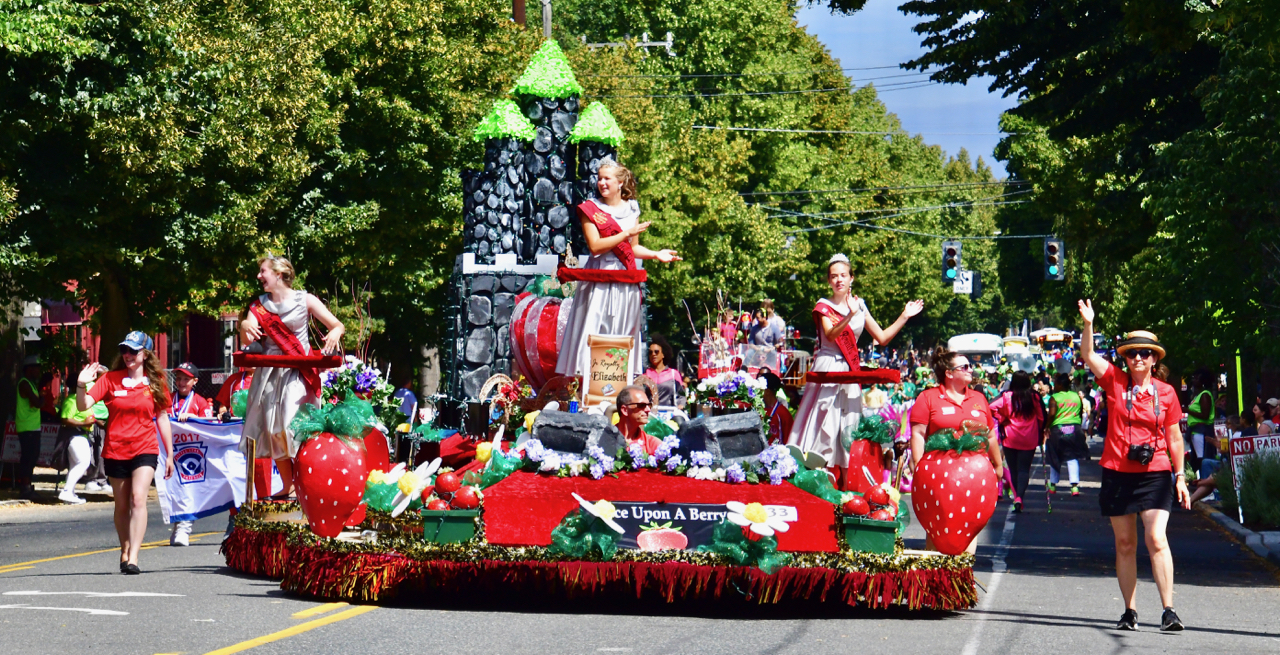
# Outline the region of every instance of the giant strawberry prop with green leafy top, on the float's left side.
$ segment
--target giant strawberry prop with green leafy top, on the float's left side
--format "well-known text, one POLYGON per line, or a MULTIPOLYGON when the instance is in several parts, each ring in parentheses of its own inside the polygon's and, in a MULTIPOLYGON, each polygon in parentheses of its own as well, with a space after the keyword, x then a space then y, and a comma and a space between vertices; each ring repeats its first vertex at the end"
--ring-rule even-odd
POLYGON ((361 438, 375 421, 367 402, 348 398, 319 408, 303 406, 289 423, 302 444, 294 462, 298 504, 316 535, 338 536, 360 507, 369 477, 361 438))

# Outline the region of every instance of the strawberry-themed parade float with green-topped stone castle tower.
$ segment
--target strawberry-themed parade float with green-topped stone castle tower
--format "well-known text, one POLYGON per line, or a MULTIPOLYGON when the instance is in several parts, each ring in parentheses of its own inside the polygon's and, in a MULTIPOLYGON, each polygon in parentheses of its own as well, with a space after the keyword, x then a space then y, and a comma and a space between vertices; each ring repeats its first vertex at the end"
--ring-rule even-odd
MULTIPOLYGON (((652 454, 627 448, 607 414, 568 411, 591 394, 590 381, 554 375, 572 303, 557 272, 584 252, 573 205, 591 197, 599 160, 623 137, 599 101, 579 119, 581 88, 552 41, 513 95, 476 128, 484 170, 463 174, 448 399, 431 423, 401 426, 410 453, 388 449, 370 395, 351 384, 300 412, 298 500, 244 504, 223 545, 228 565, 351 601, 972 608, 972 555, 905 549, 909 503, 878 484, 878 470, 841 491, 804 453, 768 445, 750 381, 721 380, 707 416, 650 421, 662 440, 652 454)), ((896 431, 878 418, 846 435, 860 453, 896 431)), ((933 466, 947 466, 951 445, 938 444, 933 466)), ((986 523, 969 518, 966 531, 986 523)), ((928 521, 947 530, 940 512, 928 521)))

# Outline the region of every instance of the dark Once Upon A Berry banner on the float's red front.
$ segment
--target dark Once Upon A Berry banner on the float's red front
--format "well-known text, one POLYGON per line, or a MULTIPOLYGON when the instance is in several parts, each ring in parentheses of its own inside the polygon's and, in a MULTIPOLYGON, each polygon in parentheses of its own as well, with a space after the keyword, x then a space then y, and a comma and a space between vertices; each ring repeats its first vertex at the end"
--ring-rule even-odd
MULTIPOLYGON (((618 548, 632 550, 698 550, 712 542, 712 532, 728 514, 723 504, 612 503, 618 510, 613 521, 626 530, 618 537, 618 548)), ((764 505, 764 509, 786 522, 799 518, 794 507, 764 505)))

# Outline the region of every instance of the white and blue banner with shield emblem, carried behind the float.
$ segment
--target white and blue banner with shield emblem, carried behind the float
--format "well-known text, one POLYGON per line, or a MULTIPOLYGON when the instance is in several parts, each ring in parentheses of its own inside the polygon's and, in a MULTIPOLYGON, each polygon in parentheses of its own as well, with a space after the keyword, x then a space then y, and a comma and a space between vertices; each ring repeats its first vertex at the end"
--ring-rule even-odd
MULTIPOLYGON (((244 453, 239 452, 243 421, 170 421, 173 477, 156 471, 156 493, 164 522, 196 521, 244 501, 244 453)), ((161 444, 161 450, 164 444, 161 444)), ((161 464, 163 467, 163 464, 161 464)))

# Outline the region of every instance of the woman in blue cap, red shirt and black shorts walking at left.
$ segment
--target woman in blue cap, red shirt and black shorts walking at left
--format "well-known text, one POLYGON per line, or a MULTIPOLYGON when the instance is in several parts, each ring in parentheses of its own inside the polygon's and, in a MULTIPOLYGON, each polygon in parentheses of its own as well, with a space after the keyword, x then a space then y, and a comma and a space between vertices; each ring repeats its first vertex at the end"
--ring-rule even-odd
POLYGON ((169 385, 152 353, 154 342, 140 331, 120 342, 120 356, 109 372, 100 363, 81 371, 76 386, 79 411, 106 404, 102 464, 115 495, 115 533, 120 539, 120 573, 136 576, 138 548, 147 531, 147 490, 160 466, 156 430, 164 440, 164 477, 173 476, 173 432, 169 430, 169 385), (88 384, 99 377, 92 389, 88 384))

